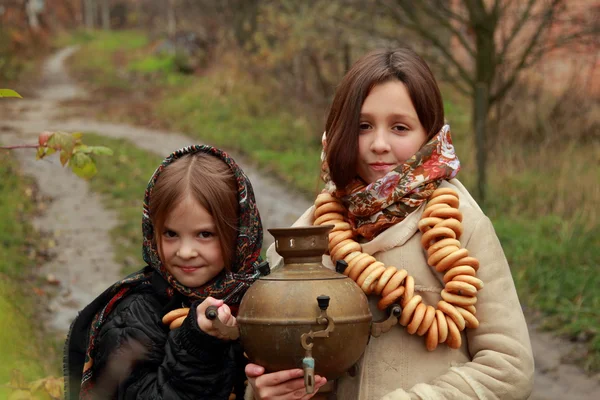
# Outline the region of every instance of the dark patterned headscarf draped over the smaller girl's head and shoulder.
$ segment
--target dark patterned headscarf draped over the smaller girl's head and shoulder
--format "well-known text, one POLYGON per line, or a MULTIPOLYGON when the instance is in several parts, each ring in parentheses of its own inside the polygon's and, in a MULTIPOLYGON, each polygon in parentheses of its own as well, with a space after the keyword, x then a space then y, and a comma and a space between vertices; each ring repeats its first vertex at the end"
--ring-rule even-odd
POLYGON ((223 299, 232 310, 241 302, 243 294, 260 276, 258 264, 262 247, 262 225, 250 180, 227 153, 208 145, 184 147, 168 156, 156 169, 144 196, 142 215, 142 254, 147 267, 116 282, 90 303, 73 321, 65 347, 65 394, 67 399, 87 399, 94 387, 94 356, 102 325, 117 304, 133 291, 152 285, 153 275, 159 274, 168 283, 164 293, 171 298, 177 293, 190 301, 208 296, 223 299), (231 271, 225 269, 200 288, 180 284, 160 261, 154 238, 154 227, 149 217, 149 203, 157 179, 166 166, 187 154, 207 153, 225 162, 233 171, 238 189, 239 219, 234 263, 231 271), (78 379, 81 378, 81 379, 78 379))

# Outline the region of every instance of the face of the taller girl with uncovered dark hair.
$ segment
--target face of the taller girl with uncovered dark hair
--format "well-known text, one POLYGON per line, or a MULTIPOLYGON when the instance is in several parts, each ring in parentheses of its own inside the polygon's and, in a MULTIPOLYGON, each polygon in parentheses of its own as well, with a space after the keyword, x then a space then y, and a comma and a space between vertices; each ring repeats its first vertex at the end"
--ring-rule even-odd
POLYGON ((360 110, 356 171, 373 183, 412 157, 425 140, 427 132, 404 83, 378 84, 360 110))

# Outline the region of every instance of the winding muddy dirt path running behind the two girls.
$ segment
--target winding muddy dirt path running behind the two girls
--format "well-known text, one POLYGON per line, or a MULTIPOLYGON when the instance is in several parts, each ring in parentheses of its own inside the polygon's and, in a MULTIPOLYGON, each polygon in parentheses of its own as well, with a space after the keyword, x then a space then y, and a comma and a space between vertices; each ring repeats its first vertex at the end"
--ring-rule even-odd
MULTIPOLYGON (((65 59, 75 51, 75 48, 63 49, 46 61, 35 98, 2 101, 0 142, 7 145, 35 143, 37 135, 44 130, 90 131, 130 140, 161 156, 198 142, 177 132, 61 117, 73 115, 65 112, 68 110, 64 110, 63 100, 86 95, 69 78, 64 67, 65 59)), ((37 181, 42 194, 53 199, 44 215, 33 223, 37 229, 55 236, 56 257, 41 266, 39 273, 43 277, 51 274, 59 282, 56 295, 47 305, 45 324, 64 335, 77 311, 120 277, 121 266, 114 262, 109 236, 117 222, 116 216, 103 207, 101 198, 89 190, 85 181, 62 168, 54 157, 35 161, 32 151, 20 150, 16 154, 24 171, 37 181)), ((265 228, 290 225, 310 205, 309 199, 261 174, 242 157, 233 156, 253 183, 265 228)), ((271 241, 265 230, 265 243, 271 241)), ((565 362, 574 351, 573 345, 539 332, 533 325, 530 335, 536 360, 531 399, 600 398, 600 374, 589 377, 579 367, 565 362)))

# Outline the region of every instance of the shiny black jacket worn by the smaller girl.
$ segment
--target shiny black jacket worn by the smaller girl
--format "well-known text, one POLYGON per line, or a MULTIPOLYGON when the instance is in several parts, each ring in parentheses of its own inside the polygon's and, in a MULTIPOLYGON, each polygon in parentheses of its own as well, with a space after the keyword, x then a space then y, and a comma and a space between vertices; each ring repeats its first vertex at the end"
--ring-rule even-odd
POLYGON ((117 390, 119 399, 227 399, 230 343, 200 330, 195 307, 168 332, 156 310, 138 297, 111 313, 99 335, 96 390, 117 390))

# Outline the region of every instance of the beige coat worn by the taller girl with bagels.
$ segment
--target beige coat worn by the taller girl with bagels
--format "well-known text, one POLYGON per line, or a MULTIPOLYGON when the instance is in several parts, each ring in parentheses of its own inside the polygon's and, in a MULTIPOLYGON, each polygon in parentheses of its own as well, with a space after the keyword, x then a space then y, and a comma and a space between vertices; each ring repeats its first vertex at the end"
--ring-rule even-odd
MULTIPOLYGON (((531 392, 534 367, 527 325, 494 228, 458 180, 441 187, 458 191, 464 217, 460 241, 480 261, 478 277, 485 285, 477 295, 480 326, 463 331, 457 350, 443 344, 429 352, 423 337, 409 335, 400 325, 371 338, 358 373, 339 379, 338 399, 526 399, 531 392)), ((420 244, 422 212, 423 207, 417 209, 362 247, 386 265, 406 269, 415 278, 415 293, 435 306, 444 283, 442 274, 427 265, 420 244)), ((312 225, 313 213, 311 207, 294 226, 312 225)), ((281 264, 274 246, 267 259, 272 267, 281 264)), ((323 262, 333 268, 328 256, 323 262)), ((376 320, 384 317, 375 307, 377 300, 370 298, 376 320)))

